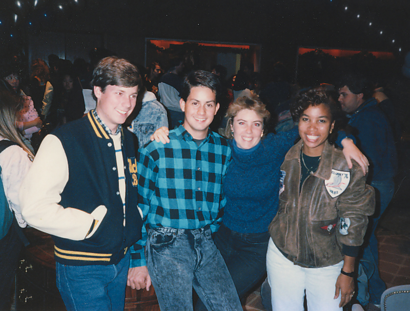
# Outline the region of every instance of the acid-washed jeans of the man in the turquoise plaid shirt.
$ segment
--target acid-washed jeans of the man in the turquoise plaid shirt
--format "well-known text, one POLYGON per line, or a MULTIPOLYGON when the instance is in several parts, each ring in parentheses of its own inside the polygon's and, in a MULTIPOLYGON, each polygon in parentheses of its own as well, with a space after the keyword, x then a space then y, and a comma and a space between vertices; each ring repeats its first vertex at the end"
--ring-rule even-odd
POLYGON ((208 310, 242 311, 209 226, 194 230, 150 229, 146 252, 161 311, 192 310, 192 287, 208 310))

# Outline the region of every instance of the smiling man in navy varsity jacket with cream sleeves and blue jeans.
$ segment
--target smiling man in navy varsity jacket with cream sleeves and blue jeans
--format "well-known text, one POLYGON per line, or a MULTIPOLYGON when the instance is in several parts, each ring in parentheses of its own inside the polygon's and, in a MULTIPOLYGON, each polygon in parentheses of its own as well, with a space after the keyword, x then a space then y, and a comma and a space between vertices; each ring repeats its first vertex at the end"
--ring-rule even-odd
POLYGON ((133 134, 121 124, 135 107, 141 78, 125 59, 107 57, 92 85, 95 110, 44 139, 20 202, 27 223, 53 236, 67 310, 124 310, 129 249, 142 220, 133 134))

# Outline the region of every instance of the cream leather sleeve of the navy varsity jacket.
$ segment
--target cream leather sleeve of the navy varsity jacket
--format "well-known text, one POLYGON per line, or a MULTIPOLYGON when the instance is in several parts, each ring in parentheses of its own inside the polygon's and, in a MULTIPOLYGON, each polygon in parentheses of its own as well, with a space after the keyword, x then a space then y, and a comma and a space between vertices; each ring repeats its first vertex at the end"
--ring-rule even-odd
POLYGON ((48 135, 20 188, 20 207, 23 218, 33 228, 67 239, 83 240, 96 231, 107 208, 96 206, 97 212, 92 215, 59 205, 60 194, 69 178, 68 172, 67 157, 61 142, 57 137, 48 135), (99 221, 91 228, 94 219, 99 221))

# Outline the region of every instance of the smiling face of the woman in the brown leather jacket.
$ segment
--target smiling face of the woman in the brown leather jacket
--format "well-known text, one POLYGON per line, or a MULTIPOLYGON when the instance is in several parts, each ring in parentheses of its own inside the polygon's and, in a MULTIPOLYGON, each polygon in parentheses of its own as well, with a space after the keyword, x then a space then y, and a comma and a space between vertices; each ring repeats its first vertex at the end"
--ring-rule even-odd
POLYGON ((319 157, 335 121, 329 107, 325 104, 309 106, 300 115, 299 136, 303 140, 303 153, 310 157, 319 157))

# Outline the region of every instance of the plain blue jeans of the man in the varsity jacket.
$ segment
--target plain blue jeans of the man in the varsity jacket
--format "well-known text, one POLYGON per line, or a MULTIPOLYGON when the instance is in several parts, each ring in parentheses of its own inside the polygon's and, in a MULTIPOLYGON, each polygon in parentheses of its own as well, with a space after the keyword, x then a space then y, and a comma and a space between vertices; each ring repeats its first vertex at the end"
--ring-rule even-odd
POLYGON ((118 264, 56 262, 56 285, 67 311, 124 311, 130 252, 118 264))

